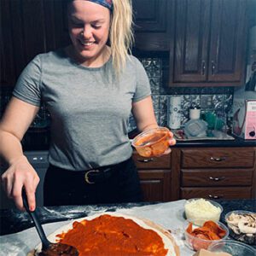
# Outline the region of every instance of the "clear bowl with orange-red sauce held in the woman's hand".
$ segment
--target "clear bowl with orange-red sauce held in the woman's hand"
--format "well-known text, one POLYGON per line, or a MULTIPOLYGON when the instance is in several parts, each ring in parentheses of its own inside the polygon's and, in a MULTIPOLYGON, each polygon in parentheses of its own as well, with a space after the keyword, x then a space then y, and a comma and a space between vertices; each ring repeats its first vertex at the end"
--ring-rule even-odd
POLYGON ((143 131, 135 137, 131 145, 137 153, 143 157, 151 157, 163 154, 169 148, 171 139, 170 131, 166 127, 158 127, 143 131))

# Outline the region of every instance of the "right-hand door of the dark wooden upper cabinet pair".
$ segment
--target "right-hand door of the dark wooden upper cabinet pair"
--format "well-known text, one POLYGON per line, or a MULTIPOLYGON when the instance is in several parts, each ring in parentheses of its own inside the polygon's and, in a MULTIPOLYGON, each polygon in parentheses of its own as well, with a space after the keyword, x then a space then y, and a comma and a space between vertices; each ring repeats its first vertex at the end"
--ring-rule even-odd
POLYGON ((244 0, 212 1, 208 81, 241 85, 245 60, 244 0))

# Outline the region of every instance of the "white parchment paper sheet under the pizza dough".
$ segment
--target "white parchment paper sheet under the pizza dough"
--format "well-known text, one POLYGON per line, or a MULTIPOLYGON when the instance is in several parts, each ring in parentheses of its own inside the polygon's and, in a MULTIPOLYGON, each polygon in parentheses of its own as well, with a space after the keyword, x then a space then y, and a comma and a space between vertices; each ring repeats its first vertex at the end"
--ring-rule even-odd
MULTIPOLYGON (((192 256, 195 252, 191 251, 184 244, 183 238, 183 211, 184 200, 173 201, 167 203, 160 203, 154 205, 148 205, 144 207, 132 207, 129 209, 121 208, 116 212, 122 212, 137 217, 148 218, 157 224, 160 224, 166 230, 172 231, 177 245, 180 248, 182 256, 192 256)), ((105 212, 98 211, 99 212, 105 212)), ((91 212, 95 214, 96 212, 91 212)), ((53 233, 62 225, 68 224, 70 220, 61 221, 58 223, 44 224, 43 228, 46 236, 53 233)), ((19 233, 0 236, 0 256, 25 256, 29 251, 36 247, 40 243, 38 233, 35 228, 21 231, 19 233)))

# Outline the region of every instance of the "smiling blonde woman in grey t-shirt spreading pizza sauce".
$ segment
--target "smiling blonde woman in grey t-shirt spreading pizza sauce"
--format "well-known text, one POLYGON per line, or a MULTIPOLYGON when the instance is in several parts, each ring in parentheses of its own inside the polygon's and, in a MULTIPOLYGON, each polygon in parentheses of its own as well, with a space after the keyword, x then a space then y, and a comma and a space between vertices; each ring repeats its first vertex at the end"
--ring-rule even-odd
POLYGON ((20 141, 44 102, 52 118, 44 204, 141 201, 126 123, 132 111, 140 131, 158 125, 146 73, 128 55, 131 3, 73 0, 67 10, 72 45, 27 65, 0 123, 0 153, 9 164, 3 188, 24 209, 24 187, 35 209, 39 178, 20 141))

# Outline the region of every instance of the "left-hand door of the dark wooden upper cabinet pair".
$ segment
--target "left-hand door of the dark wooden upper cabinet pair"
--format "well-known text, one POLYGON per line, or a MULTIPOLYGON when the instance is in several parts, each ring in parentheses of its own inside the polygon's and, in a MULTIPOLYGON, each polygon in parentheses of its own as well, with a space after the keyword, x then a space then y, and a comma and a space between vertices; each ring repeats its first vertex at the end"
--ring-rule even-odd
POLYGON ((209 16, 210 0, 176 1, 174 83, 206 81, 209 16))

